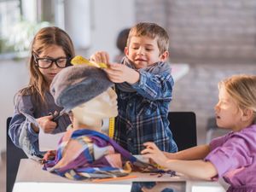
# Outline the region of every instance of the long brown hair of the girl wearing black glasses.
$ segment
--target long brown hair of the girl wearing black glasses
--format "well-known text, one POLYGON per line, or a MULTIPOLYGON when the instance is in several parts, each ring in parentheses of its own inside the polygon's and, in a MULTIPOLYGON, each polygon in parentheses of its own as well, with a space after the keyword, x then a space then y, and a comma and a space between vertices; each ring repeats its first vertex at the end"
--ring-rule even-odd
POLYGON ((49 90, 49 83, 44 79, 42 73, 40 73, 36 66, 35 59, 32 53, 40 55, 44 49, 49 48, 52 45, 60 46, 67 57, 73 58, 75 55, 73 42, 68 36, 67 32, 64 32, 56 26, 49 26, 42 28, 33 38, 31 45, 31 52, 29 58, 29 70, 30 80, 29 85, 20 90, 20 94, 31 95, 35 102, 39 102, 41 106, 45 104, 45 91, 49 90))

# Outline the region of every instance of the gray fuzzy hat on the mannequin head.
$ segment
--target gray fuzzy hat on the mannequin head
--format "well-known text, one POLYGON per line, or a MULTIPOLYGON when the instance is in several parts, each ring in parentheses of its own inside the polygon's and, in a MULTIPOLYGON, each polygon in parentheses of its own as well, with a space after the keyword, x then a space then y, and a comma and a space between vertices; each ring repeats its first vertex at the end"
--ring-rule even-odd
POLYGON ((57 73, 49 90, 56 105, 66 112, 102 94, 113 83, 102 69, 90 66, 72 66, 57 73))

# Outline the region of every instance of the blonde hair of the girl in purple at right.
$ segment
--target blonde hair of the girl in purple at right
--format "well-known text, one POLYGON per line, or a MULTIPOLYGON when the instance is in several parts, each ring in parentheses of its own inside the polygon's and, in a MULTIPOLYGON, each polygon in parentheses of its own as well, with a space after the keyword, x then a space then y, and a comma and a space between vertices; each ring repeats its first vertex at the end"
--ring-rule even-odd
POLYGON ((256 123, 256 76, 234 75, 218 83, 234 99, 239 109, 253 110, 253 123, 256 123))

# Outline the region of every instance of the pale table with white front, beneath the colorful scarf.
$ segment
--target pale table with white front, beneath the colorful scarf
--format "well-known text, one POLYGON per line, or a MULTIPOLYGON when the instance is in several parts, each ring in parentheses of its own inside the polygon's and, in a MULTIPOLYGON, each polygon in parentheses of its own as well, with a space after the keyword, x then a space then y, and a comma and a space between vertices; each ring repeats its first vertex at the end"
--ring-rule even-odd
POLYGON ((157 175, 141 172, 132 172, 131 175, 136 177, 102 183, 73 181, 42 170, 42 165, 34 160, 22 159, 20 160, 13 192, 131 192, 132 184, 137 184, 137 182, 157 182, 158 186, 165 185, 168 188, 175 189, 176 192, 225 191, 219 183, 191 180, 182 176, 170 177, 164 175, 158 177, 157 175))

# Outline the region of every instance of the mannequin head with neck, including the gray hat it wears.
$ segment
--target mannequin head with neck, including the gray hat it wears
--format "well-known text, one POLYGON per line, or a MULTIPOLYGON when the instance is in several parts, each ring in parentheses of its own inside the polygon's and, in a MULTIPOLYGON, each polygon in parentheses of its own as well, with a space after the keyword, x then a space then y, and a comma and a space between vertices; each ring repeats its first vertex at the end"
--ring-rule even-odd
POLYGON ((73 66, 61 70, 50 85, 55 103, 72 112, 73 128, 100 131, 102 119, 117 115, 117 95, 102 69, 73 66))

